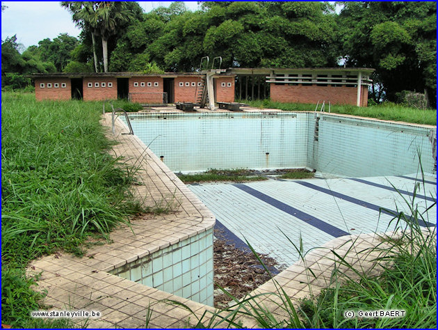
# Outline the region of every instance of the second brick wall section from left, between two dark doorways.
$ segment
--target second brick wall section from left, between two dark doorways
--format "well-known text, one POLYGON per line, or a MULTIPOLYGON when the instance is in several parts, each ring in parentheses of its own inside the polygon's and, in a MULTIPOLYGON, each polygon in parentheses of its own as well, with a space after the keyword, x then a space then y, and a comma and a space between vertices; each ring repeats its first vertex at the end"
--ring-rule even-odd
POLYGON ((102 101, 117 100, 117 78, 114 77, 84 77, 83 78, 83 100, 102 101), (104 83, 104 87, 102 87, 104 83), (108 86, 108 83, 113 86, 108 86), (92 87, 89 87, 91 84, 92 87), (98 84, 98 86, 96 86, 98 84))

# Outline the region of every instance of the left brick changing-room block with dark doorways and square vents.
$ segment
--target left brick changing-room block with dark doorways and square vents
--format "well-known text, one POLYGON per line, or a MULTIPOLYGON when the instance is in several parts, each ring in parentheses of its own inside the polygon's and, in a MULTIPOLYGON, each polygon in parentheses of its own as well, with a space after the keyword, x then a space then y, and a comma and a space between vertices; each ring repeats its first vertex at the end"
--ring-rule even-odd
MULTIPOLYGON (((84 101, 117 100, 167 104, 197 102, 204 74, 193 73, 53 73, 33 74, 36 100, 84 101)), ((225 72, 213 77, 216 102, 234 101, 234 75, 225 72), (217 76, 217 77, 216 77, 217 76)))

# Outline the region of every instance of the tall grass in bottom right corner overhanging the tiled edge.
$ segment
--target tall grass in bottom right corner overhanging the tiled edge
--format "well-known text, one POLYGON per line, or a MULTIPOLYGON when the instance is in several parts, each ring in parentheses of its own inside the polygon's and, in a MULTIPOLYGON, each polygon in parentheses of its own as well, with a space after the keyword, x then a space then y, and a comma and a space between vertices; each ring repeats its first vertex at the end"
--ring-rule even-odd
MULTIPOLYGON (((424 182, 424 177, 423 177, 424 182)), ((437 327, 437 233, 436 226, 421 227, 420 223, 428 221, 428 210, 436 205, 435 201, 421 211, 416 201, 421 184, 414 187, 414 197, 404 198, 409 212, 394 214, 390 225, 397 228, 396 236, 380 236, 377 246, 357 251, 348 249, 345 256, 330 250, 329 258, 336 262, 330 288, 314 294, 309 285, 309 297, 302 301, 291 301, 286 290, 275 281, 276 290, 256 294, 241 301, 234 298, 226 290, 223 292, 232 297, 236 306, 216 313, 196 315, 191 311, 197 324, 196 328, 241 328, 245 324, 239 317, 254 320, 261 328, 435 328, 437 327), (375 262, 382 267, 382 272, 370 272, 362 269, 362 265, 352 264, 350 254, 368 255, 367 261, 375 262), (260 298, 270 297, 266 308, 260 298), (277 310, 277 314, 272 313, 277 310), (404 317, 357 317, 359 311, 392 310, 404 311, 404 317), (356 317, 344 317, 346 311, 355 311, 356 317), (278 317, 284 313, 286 317, 278 317)), ((423 184, 424 188, 424 184, 423 184)), ((424 191, 425 195, 427 194, 424 191)), ((302 260, 306 253, 302 242, 296 246, 289 239, 302 260)), ((248 242, 247 242, 248 243, 248 242)), ((354 243, 354 242, 353 242, 354 243)), ((250 246, 250 244, 248 243, 250 246)), ((251 247, 251 246, 250 246, 251 247)), ((251 247, 252 249, 252 247, 251 247)), ((252 249, 253 253, 257 253, 252 249)), ((363 259, 362 259, 363 260, 363 259)), ((263 264, 263 262, 259 261, 263 264)), ((306 262, 305 262, 306 265, 306 262)), ((265 267, 266 272, 268 269, 265 267)), ((316 278, 310 268, 306 269, 309 279, 316 278)), ((271 276, 272 277, 272 276, 271 276)), ((190 308, 177 301, 172 304, 190 308)))

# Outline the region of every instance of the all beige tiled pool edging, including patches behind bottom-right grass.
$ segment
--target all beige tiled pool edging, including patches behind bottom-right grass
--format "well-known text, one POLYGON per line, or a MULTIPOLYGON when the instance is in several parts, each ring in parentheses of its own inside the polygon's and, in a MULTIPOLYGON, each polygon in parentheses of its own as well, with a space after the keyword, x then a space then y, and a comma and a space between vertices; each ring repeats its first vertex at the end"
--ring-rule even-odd
MULTIPOLYGON (((111 123, 111 120, 106 120, 111 123)), ((120 128, 120 127, 119 127, 120 128)), ((136 152, 143 152, 144 145, 135 136, 121 136, 120 138, 129 143, 117 152, 122 155, 122 150, 127 152, 125 157, 136 159, 136 152)), ((117 150, 117 146, 114 147, 117 150)), ((149 154, 148 154, 149 155, 149 154)), ((200 203, 193 193, 188 191, 186 186, 175 175, 168 170, 155 155, 150 155, 153 162, 147 175, 153 176, 154 187, 159 198, 163 197, 163 190, 170 194, 177 194, 177 197, 184 197, 190 203, 181 203, 181 212, 163 216, 149 216, 133 221, 133 233, 130 228, 120 228, 111 233, 113 244, 97 246, 87 251, 84 258, 76 258, 68 254, 56 254, 35 260, 29 266, 30 273, 42 272, 42 277, 38 281, 40 290, 46 289, 48 294, 44 300, 45 304, 52 305, 59 309, 85 309, 97 310, 103 313, 103 317, 92 320, 90 327, 145 327, 145 317, 147 307, 151 304, 153 313, 149 327, 172 328, 185 327, 186 319, 190 314, 177 306, 169 306, 161 299, 174 299, 192 308, 197 315, 202 315, 204 311, 213 313, 214 308, 198 304, 194 301, 168 294, 166 292, 149 288, 145 285, 129 281, 108 273, 111 269, 122 267, 128 262, 133 262, 151 253, 165 249, 166 247, 177 244, 190 235, 196 234, 213 228, 214 217, 202 203, 200 203), (209 216, 203 217, 202 214, 209 216), (193 223, 187 224, 186 220, 191 219, 193 223), (147 225, 147 229, 143 226, 147 225), (187 226, 188 225, 188 226, 187 226), (140 228, 142 227, 142 228, 140 228), (208 229, 207 229, 208 228, 208 229), (165 233, 166 235, 163 235, 165 233)), ((345 244, 351 237, 339 237, 334 239, 326 246, 345 244)), ((369 235, 361 235, 357 241, 357 249, 363 250, 364 246, 369 246, 369 235), (364 238, 362 239, 362 236, 364 238)), ((341 246, 339 251, 343 251, 345 246, 341 246)), ((327 255, 309 254, 307 266, 318 265, 318 274, 321 274, 318 281, 311 283, 311 287, 316 293, 323 288, 320 281, 324 278, 322 274, 330 276, 330 260, 325 258, 327 255), (327 266, 327 267, 326 267, 327 266)), ((358 257, 359 260, 359 257, 358 257)), ((364 266, 365 267, 365 266, 364 266)), ((284 285, 286 294, 290 295, 293 301, 304 297, 309 293, 306 283, 308 277, 306 269, 298 262, 284 272, 275 276, 275 280, 284 285)), ((262 285, 257 290, 273 290, 272 281, 262 285)), ((256 292, 259 292, 257 291, 256 292)), ((265 301, 266 306, 275 315, 282 316, 275 306, 265 301)), ((278 306, 276 306, 278 307, 278 306)), ((208 315, 208 313, 207 313, 208 315)), ((191 322, 193 323, 193 317, 191 322)), ((255 327, 253 320, 243 320, 245 326, 255 327)))

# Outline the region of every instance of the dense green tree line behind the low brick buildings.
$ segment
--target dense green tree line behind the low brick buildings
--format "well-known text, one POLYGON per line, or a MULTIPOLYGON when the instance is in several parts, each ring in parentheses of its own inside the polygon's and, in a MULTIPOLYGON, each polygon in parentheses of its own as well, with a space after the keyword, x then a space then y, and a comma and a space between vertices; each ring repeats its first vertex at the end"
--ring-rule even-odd
POLYGON ((375 68, 375 102, 395 102, 407 90, 426 91, 435 105, 435 1, 346 1, 336 3, 339 10, 316 1, 204 1, 195 12, 177 1, 150 13, 129 1, 62 6, 81 27, 80 40, 62 34, 20 54, 15 36, 7 38, 3 86, 27 84, 11 74, 106 66, 110 72, 191 72, 202 56, 222 56, 222 68, 375 68))

